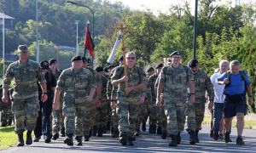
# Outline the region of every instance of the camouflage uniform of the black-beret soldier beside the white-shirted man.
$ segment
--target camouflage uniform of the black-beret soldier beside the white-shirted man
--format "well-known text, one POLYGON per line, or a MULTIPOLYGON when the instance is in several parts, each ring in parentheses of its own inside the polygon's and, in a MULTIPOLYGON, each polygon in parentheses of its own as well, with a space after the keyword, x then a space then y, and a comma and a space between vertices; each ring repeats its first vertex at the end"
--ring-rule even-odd
MULTIPOLYGON (((198 73, 193 74, 195 81, 195 103, 193 105, 188 104, 188 119, 187 131, 201 130, 201 122, 204 120, 206 91, 209 95, 209 99, 214 98, 214 90, 212 82, 208 77, 207 73, 199 69, 198 73)), ((188 99, 189 101, 189 99, 188 99)))

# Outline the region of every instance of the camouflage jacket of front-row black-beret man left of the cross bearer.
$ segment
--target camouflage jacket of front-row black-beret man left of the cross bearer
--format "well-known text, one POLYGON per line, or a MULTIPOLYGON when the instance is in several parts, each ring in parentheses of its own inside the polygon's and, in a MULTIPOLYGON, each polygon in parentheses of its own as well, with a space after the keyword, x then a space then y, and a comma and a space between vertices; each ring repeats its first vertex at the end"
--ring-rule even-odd
POLYGON ((71 67, 62 71, 56 88, 64 90, 64 101, 84 103, 90 89, 96 88, 96 81, 89 70, 74 71, 71 67))

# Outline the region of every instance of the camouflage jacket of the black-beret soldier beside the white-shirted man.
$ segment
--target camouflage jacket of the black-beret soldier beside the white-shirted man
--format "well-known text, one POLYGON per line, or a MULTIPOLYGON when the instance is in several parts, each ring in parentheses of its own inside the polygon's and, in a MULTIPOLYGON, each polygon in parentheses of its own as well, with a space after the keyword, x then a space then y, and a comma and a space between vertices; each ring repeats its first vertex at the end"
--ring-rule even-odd
MULTIPOLYGON (((214 90, 210 77, 207 73, 199 69, 198 73, 193 74, 195 81, 195 99, 206 101, 206 91, 209 99, 214 99, 214 90)), ((195 100, 196 102, 196 100, 195 100)))

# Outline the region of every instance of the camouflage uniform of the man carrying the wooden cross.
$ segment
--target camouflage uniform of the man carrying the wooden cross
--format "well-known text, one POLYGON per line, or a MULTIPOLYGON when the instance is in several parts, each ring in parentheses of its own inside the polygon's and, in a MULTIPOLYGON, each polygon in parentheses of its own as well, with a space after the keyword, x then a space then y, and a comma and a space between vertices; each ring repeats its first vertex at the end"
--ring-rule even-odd
MULTIPOLYGON (((113 71, 111 82, 124 77, 123 70, 123 66, 116 67, 113 71)), ((140 83, 148 84, 146 74, 139 66, 134 66, 131 69, 127 67, 127 74, 129 77, 128 87, 137 86, 140 83)), ((127 135, 128 138, 131 138, 136 132, 137 114, 142 96, 140 90, 133 90, 129 94, 125 94, 125 82, 119 83, 116 111, 119 116, 120 136, 127 135)))

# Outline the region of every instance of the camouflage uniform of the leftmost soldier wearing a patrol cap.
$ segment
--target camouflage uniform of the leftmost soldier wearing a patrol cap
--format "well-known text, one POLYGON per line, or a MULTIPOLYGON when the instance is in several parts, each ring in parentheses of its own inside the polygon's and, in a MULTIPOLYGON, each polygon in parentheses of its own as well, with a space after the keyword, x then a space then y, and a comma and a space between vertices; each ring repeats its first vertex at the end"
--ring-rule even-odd
POLYGON ((13 93, 12 111, 15 115, 15 133, 25 131, 25 114, 26 129, 34 130, 37 122, 39 104, 38 104, 38 82, 46 82, 44 73, 38 63, 28 59, 26 63, 20 60, 10 64, 4 80, 3 88, 9 88, 12 79, 15 78, 15 90, 13 93))

